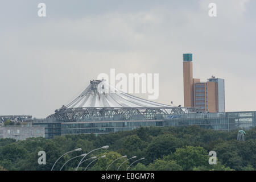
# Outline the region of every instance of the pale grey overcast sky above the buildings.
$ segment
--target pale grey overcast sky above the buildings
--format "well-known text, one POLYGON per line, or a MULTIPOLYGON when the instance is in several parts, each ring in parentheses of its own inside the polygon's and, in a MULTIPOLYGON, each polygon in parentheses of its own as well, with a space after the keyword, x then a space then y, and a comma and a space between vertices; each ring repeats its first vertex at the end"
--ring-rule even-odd
POLYGON ((155 101, 183 105, 183 53, 193 53, 195 78, 225 79, 226 111, 256 110, 255 8, 253 0, 1 1, 0 115, 47 117, 110 68, 159 73, 155 101))

